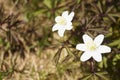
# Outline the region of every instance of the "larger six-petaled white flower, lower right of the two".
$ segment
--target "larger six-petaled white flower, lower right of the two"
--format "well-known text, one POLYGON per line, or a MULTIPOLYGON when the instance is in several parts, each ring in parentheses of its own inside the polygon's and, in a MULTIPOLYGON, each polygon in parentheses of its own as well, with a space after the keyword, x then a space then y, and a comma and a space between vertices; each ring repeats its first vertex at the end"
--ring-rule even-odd
POLYGON ((101 45, 103 42, 104 35, 98 35, 94 40, 88 36, 87 34, 83 35, 84 44, 77 44, 76 49, 85 51, 80 60, 86 61, 91 57, 95 59, 97 62, 102 61, 101 53, 111 52, 111 48, 105 45, 101 45))

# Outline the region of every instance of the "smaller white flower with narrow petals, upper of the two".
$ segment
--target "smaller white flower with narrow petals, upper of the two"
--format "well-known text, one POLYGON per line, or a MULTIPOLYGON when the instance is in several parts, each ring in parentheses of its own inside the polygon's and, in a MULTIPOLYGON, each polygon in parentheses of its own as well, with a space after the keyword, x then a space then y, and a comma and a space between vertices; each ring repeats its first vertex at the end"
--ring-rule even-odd
POLYGON ((53 26, 52 31, 58 30, 58 34, 60 37, 63 37, 65 30, 72 29, 72 19, 74 17, 74 12, 71 12, 68 15, 68 11, 64 11, 62 16, 57 16, 55 18, 56 24, 53 26))

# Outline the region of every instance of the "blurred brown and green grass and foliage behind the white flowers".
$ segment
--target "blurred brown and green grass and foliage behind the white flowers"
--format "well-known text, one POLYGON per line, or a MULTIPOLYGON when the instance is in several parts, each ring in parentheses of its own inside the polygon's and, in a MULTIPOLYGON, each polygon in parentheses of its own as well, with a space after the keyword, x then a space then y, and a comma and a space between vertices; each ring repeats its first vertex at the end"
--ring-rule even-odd
POLYGON ((120 0, 0 0, 0 80, 120 80, 120 0), (60 38, 55 17, 74 11, 73 29, 60 38), (82 35, 104 34, 112 48, 91 72, 82 35))

